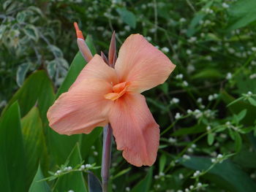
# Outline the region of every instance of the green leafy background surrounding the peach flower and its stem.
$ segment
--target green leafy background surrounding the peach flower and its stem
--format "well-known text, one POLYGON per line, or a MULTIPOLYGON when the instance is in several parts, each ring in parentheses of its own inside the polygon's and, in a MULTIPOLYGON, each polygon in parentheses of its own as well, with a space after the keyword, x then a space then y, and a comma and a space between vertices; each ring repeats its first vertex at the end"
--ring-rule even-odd
POLYGON ((87 175, 100 177, 102 128, 67 137, 46 118, 86 64, 74 58, 78 21, 94 53, 107 53, 113 30, 118 47, 140 33, 176 64, 145 93, 161 127, 157 162, 131 166, 113 146, 110 191, 255 191, 255 0, 0 2, 1 189, 97 185, 87 175))

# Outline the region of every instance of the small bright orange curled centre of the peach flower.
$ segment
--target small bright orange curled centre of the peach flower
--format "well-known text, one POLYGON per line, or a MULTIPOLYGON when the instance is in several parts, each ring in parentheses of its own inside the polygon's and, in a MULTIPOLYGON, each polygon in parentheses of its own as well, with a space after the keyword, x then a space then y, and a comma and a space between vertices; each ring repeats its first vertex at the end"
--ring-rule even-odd
POLYGON ((119 97, 121 97, 122 95, 124 95, 124 93, 127 92, 127 88, 129 87, 129 82, 120 82, 116 85, 113 85, 112 88, 112 93, 108 93, 105 94, 105 99, 110 99, 112 101, 115 101, 116 99, 118 99, 119 97))

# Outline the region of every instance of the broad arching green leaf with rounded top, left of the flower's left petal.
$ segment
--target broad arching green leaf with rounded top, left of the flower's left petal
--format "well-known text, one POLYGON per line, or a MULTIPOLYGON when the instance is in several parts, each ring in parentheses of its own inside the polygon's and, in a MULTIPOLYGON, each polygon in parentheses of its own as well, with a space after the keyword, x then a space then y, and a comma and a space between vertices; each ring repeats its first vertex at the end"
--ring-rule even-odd
POLYGON ((48 123, 46 112, 54 101, 53 85, 45 70, 31 74, 22 87, 12 96, 4 108, 7 110, 15 101, 20 105, 20 115, 25 116, 37 104, 44 125, 48 123))

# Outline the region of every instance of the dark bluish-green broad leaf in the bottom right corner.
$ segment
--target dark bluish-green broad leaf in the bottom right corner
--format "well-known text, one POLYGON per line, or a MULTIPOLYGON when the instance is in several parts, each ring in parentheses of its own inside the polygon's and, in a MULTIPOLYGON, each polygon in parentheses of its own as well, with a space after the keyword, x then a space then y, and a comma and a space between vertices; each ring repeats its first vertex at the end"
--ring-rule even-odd
MULTIPOLYGON (((211 166, 211 158, 191 156, 189 160, 181 161, 181 164, 190 169, 202 171, 211 166)), ((256 183, 229 160, 216 164, 204 177, 211 183, 223 186, 227 191, 255 192, 256 183)))

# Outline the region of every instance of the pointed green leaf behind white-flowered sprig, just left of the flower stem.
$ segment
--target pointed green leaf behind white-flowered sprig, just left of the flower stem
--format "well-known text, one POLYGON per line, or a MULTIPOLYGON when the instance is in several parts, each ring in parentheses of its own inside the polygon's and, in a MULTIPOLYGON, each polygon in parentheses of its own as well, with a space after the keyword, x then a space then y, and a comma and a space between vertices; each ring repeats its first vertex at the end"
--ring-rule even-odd
MULTIPOLYGON (((73 150, 71 151, 69 157, 67 158, 65 164, 68 166, 76 166, 82 162, 82 158, 80 155, 80 149, 78 143, 75 145, 73 150)), ((63 163, 63 164, 64 164, 63 163)), ((80 191, 86 192, 85 181, 83 180, 83 174, 81 172, 72 172, 60 177, 56 181, 56 185, 53 191, 80 191)))

